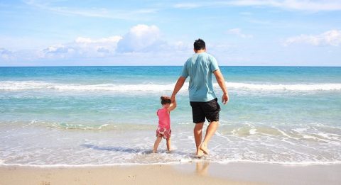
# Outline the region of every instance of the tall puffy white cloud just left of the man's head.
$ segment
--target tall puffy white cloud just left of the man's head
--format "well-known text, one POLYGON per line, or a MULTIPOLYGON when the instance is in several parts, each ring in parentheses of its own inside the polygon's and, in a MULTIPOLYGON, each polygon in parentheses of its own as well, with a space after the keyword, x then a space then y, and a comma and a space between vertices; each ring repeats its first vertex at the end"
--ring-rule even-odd
POLYGON ((129 30, 117 44, 117 52, 151 52, 167 44, 160 38, 157 26, 139 24, 129 30))

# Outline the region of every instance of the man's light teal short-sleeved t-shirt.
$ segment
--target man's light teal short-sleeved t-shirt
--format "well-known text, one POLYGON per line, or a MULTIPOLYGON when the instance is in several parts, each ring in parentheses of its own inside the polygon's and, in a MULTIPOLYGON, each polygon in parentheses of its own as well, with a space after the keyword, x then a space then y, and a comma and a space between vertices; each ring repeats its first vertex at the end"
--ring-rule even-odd
POLYGON ((207 52, 196 53, 185 62, 181 77, 190 77, 190 101, 206 102, 217 98, 212 84, 212 75, 217 69, 217 60, 207 52))

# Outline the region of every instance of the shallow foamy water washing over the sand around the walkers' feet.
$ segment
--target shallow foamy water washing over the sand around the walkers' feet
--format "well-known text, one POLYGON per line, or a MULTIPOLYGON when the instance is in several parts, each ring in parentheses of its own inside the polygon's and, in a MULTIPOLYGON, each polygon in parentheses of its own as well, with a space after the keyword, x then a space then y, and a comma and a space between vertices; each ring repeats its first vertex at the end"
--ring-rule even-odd
POLYGON ((153 125, 136 125, 138 130, 129 126, 126 130, 126 127, 114 129, 118 125, 100 124, 94 128, 101 130, 87 131, 46 127, 38 120, 0 125, 3 141, 0 147, 4 149, 0 153, 0 166, 101 167, 181 164, 197 160, 222 164, 341 164, 340 142, 336 140, 340 139, 340 134, 313 130, 304 125, 298 128, 302 133, 293 131, 295 128, 275 129, 254 123, 222 126, 210 145, 211 154, 203 159, 194 156, 193 133, 191 129, 187 130, 187 125, 172 128, 173 152, 166 152, 163 140, 158 154, 151 153, 155 141, 153 125), (328 140, 318 133, 332 134, 332 137, 328 140))

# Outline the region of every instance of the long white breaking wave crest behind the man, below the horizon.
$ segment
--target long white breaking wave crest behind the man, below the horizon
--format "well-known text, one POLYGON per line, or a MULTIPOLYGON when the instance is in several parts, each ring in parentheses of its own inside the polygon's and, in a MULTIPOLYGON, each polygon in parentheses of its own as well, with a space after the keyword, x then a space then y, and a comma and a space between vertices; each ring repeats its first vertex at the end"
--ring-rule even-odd
MULTIPOLYGON (((173 91, 175 84, 58 84, 42 81, 2 81, 0 90, 23 91, 50 89, 59 91, 173 91)), ((227 82, 229 89, 249 91, 340 91, 341 84, 251 84, 227 82)), ((217 83, 214 84, 219 88, 217 83)), ((188 83, 183 89, 188 89, 188 83)))

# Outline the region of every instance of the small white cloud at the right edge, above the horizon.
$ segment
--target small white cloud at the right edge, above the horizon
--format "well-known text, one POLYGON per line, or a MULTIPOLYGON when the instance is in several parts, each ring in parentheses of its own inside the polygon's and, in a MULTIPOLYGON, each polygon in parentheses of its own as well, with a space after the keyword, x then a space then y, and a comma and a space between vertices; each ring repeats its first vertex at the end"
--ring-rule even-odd
POLYGON ((341 30, 328 30, 320 35, 298 35, 296 37, 287 38, 283 45, 287 46, 294 43, 305 43, 315 46, 338 46, 341 44, 341 30))

